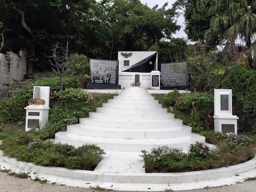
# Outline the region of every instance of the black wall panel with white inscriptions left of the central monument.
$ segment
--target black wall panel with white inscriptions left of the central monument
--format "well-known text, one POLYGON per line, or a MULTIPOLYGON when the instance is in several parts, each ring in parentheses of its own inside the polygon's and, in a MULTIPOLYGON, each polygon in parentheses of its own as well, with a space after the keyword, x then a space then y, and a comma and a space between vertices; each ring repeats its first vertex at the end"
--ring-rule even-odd
POLYGON ((90 59, 90 83, 116 84, 118 61, 90 59))

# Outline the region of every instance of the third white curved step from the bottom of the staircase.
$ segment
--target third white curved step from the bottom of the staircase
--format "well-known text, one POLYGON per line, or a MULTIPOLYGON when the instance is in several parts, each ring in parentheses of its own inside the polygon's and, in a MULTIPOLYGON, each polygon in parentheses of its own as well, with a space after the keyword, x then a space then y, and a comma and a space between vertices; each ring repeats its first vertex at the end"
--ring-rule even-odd
POLYGON ((116 127, 116 128, 169 128, 182 126, 181 119, 168 120, 109 120, 109 119, 93 119, 81 118, 79 123, 87 126, 96 127, 116 127))

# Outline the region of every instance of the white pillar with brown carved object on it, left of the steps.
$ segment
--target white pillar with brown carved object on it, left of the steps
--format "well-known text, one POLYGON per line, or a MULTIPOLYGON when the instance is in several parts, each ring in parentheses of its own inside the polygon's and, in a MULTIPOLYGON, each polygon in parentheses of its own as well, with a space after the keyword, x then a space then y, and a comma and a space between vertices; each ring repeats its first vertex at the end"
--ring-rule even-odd
POLYGON ((47 125, 49 118, 50 87, 34 87, 33 99, 29 99, 26 106, 25 131, 41 129, 47 125))

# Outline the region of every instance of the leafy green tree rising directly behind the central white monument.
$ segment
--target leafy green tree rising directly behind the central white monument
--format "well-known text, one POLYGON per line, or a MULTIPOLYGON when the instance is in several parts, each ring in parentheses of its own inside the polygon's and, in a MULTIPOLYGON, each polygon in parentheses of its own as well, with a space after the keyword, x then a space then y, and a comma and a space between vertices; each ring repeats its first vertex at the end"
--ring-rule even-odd
POLYGON ((151 9, 140 0, 101 1, 99 6, 106 13, 101 20, 109 31, 107 41, 117 49, 148 50, 161 39, 170 38, 180 26, 175 20, 176 10, 166 9, 167 5, 151 9))

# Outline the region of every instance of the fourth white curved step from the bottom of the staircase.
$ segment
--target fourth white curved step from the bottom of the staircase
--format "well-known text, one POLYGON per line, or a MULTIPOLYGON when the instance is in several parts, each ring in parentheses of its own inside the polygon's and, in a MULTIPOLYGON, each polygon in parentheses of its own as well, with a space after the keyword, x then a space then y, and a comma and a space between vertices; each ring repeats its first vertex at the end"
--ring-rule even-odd
POLYGON ((108 120, 165 120, 174 119, 174 114, 118 114, 118 113, 98 113, 89 112, 89 117, 94 119, 108 119, 108 120))

